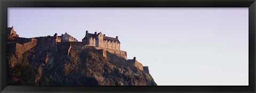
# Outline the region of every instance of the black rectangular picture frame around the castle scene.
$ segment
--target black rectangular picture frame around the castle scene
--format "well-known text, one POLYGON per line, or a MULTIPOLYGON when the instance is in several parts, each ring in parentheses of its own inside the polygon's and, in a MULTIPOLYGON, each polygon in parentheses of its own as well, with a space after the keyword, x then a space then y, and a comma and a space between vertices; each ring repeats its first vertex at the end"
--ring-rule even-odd
POLYGON ((255 0, 1 0, 1 92, 255 92, 255 0), (7 86, 7 7, 249 7, 249 86, 7 86))

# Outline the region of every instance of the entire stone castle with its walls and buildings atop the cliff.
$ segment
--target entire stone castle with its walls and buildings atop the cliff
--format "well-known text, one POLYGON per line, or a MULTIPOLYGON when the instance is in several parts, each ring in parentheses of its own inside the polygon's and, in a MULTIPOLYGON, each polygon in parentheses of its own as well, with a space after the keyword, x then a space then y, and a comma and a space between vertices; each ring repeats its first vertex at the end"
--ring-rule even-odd
MULTIPOLYGON (((53 51, 65 51, 67 57, 69 57, 71 48, 97 50, 97 52, 99 52, 103 57, 108 58, 111 64, 116 66, 128 66, 133 71, 141 70, 145 73, 149 73, 148 66, 143 66, 136 60, 136 57, 133 57, 133 59, 130 60, 127 59, 127 53, 120 50, 120 41, 118 40, 118 36, 116 36, 116 38, 112 38, 102 35, 101 32, 94 32, 94 34, 92 34, 86 31, 82 42, 78 41, 67 32, 61 36, 58 36, 58 34, 55 33, 53 36, 49 35, 45 37, 23 38, 17 35, 13 27, 7 28, 8 53, 22 55, 26 51, 38 45, 42 45, 45 49, 51 49, 53 51), (116 56, 118 58, 114 58, 116 56)), ((9 64, 11 66, 14 65, 14 63, 9 64)))

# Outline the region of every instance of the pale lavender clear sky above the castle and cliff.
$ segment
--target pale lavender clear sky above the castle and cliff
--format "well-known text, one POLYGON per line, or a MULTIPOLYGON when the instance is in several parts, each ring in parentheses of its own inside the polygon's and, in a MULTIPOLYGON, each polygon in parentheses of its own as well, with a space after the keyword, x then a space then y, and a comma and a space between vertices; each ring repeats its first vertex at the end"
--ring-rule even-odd
POLYGON ((9 7, 20 37, 118 36, 158 86, 248 86, 249 11, 239 8, 9 7))

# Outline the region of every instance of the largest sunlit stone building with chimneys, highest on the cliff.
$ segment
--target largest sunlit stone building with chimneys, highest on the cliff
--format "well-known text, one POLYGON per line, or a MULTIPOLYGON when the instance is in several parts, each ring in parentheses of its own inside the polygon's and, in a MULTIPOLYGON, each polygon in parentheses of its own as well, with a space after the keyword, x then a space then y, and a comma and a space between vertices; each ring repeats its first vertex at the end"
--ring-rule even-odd
POLYGON ((85 45, 89 46, 120 50, 120 41, 118 40, 118 36, 116 36, 116 38, 113 38, 107 37, 105 34, 102 35, 101 32, 94 32, 93 34, 86 31, 85 37, 82 39, 82 41, 85 45))

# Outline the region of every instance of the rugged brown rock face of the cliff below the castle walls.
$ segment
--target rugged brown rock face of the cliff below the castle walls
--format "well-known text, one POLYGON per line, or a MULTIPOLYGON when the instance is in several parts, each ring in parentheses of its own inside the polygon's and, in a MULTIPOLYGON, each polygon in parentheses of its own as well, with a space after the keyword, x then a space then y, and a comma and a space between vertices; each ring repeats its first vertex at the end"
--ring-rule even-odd
MULTIPOLYGON (((111 64, 97 49, 65 44, 37 45, 23 54, 8 54, 9 85, 37 86, 156 86, 147 72, 111 64)), ((109 55, 111 53, 108 53, 109 55)), ((122 60, 122 59, 119 59, 122 60)))

